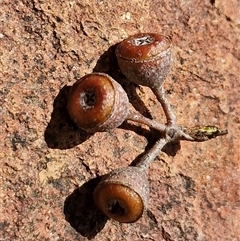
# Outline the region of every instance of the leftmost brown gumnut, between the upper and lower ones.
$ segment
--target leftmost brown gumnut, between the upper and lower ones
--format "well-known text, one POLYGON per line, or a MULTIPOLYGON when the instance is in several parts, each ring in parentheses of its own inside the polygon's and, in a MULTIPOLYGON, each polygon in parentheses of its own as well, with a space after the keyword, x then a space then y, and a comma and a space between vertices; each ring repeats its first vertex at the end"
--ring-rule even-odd
POLYGON ((122 86, 104 73, 91 73, 71 87, 68 112, 75 124, 88 132, 106 131, 122 124, 129 100, 122 86))

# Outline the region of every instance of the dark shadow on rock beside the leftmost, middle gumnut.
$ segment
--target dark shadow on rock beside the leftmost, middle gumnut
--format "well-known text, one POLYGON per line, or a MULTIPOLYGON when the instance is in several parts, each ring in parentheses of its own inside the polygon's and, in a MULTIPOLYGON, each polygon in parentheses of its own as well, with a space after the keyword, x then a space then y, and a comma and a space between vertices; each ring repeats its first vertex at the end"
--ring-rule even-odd
POLYGON ((67 96, 70 86, 64 86, 54 100, 51 120, 44 137, 49 148, 69 149, 86 141, 90 135, 79 129, 67 111, 67 96))

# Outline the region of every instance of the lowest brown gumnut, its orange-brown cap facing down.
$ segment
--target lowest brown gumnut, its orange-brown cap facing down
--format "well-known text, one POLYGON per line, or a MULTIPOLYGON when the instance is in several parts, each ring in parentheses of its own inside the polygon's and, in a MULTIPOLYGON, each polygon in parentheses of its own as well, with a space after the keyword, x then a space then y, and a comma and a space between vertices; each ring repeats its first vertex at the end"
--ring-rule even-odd
POLYGON ((149 183, 139 167, 123 167, 105 175, 95 188, 94 201, 109 218, 121 223, 137 221, 146 210, 149 183))

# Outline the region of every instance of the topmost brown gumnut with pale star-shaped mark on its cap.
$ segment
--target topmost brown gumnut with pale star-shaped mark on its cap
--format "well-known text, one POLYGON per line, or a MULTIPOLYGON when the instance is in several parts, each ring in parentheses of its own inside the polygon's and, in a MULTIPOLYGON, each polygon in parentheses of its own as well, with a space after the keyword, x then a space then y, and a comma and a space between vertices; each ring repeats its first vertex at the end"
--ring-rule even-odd
POLYGON ((150 88, 162 85, 172 66, 172 42, 161 34, 139 33, 116 48, 118 65, 132 82, 150 88))

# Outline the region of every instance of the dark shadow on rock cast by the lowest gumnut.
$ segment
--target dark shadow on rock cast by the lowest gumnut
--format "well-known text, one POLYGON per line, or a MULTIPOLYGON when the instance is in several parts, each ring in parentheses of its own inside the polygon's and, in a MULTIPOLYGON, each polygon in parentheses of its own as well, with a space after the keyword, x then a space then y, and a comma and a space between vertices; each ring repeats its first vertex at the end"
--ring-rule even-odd
POLYGON ((93 191, 100 178, 94 178, 74 190, 64 203, 66 220, 82 236, 94 238, 105 226, 108 218, 96 207, 93 191))

